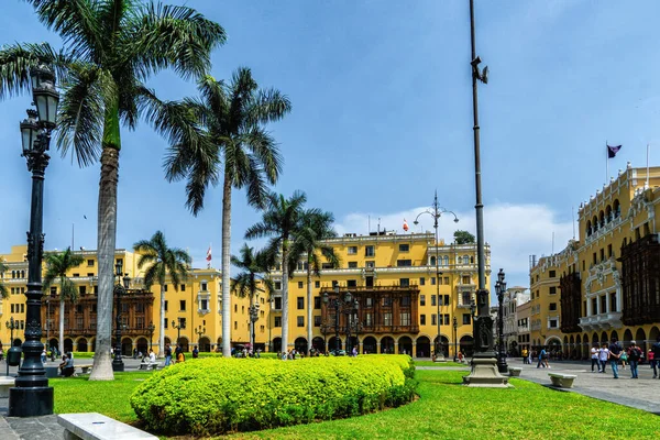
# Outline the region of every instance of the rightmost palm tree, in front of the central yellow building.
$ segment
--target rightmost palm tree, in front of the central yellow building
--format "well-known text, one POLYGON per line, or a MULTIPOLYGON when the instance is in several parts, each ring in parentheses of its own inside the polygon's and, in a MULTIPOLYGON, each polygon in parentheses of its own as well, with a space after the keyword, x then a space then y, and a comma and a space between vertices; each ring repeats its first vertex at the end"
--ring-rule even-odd
POLYGON ((337 237, 332 229, 334 216, 320 209, 307 209, 300 218, 300 229, 296 233, 292 250, 292 260, 298 261, 304 256, 307 272, 307 348, 311 348, 312 339, 312 304, 311 304, 311 275, 320 276, 321 255, 332 267, 339 267, 339 256, 331 245, 324 240, 337 237))

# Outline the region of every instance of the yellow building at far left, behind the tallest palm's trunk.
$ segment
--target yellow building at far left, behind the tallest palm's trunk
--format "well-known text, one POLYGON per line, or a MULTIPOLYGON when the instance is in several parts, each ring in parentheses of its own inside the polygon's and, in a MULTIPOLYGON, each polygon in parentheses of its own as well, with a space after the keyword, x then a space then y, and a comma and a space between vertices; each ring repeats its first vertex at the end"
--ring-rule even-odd
MULTIPOLYGON (((0 254, 8 266, 2 275, 2 283, 8 287, 10 296, 0 301, 0 343, 8 345, 11 332, 4 322, 10 317, 16 322, 18 329, 13 332, 14 343, 21 343, 25 326, 25 292, 28 284, 26 245, 12 246, 9 254, 0 254)), ((65 331, 64 345, 66 351, 94 351, 96 344, 97 323, 97 253, 96 251, 76 251, 82 255, 85 262, 70 271, 68 277, 75 283, 79 292, 79 299, 75 304, 65 304, 65 331)), ((116 251, 116 262, 122 263, 123 274, 128 276, 129 288, 121 300, 122 320, 122 352, 125 355, 133 349, 146 353, 148 346, 157 352, 160 339, 158 317, 161 309, 161 286, 154 285, 151 289, 144 288, 144 268, 138 268, 139 255, 127 251, 116 251), (150 324, 154 326, 150 334, 150 324)), ((45 268, 45 266, 44 266, 45 268)), ((184 349, 191 350, 193 344, 199 344, 201 351, 216 350, 222 341, 222 294, 221 274, 213 268, 193 268, 187 280, 174 288, 167 279, 165 285, 165 342, 175 343, 177 340, 184 349), (173 327, 173 321, 179 327, 173 327), (180 336, 180 339, 179 339, 180 336)), ((59 299, 58 287, 53 286, 43 299, 42 324, 44 342, 57 345, 59 341, 59 299), (47 316, 47 319, 46 319, 47 316)), ((266 311, 263 297, 257 299, 263 307, 260 311, 260 321, 255 328, 256 341, 265 345, 266 340, 266 311)), ((248 298, 232 297, 232 343, 248 344, 249 338, 249 305, 248 298)), ((114 344, 114 319, 112 320, 112 336, 114 344)))

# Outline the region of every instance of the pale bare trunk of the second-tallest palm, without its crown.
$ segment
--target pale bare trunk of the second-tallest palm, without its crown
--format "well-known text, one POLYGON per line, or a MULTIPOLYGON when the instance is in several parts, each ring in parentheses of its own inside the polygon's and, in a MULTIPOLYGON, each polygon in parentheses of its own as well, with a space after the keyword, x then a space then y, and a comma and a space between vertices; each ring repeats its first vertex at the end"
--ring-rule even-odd
POLYGON ((224 170, 222 187, 222 355, 231 356, 231 178, 229 169, 224 170))

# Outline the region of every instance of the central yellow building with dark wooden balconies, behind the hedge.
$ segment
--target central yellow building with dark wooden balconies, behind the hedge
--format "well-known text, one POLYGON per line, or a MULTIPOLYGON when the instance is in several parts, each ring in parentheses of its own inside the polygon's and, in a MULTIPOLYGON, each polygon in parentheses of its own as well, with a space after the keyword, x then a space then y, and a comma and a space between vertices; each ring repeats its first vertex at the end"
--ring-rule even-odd
MULTIPOLYGON (((429 356, 440 333, 446 355, 453 355, 454 346, 472 352, 470 304, 477 287, 475 244, 440 241, 436 245, 433 234, 428 232, 351 233, 326 243, 340 257, 341 267, 326 264, 320 276, 312 277, 312 301, 307 304, 306 263, 298 263, 288 286, 289 349, 305 352, 311 343, 321 352, 334 350, 338 346, 336 319, 339 319, 339 346, 344 350, 355 346, 360 353, 429 356), (349 292, 358 301, 358 311, 349 314, 351 340, 346 346, 349 315, 336 314, 332 300, 343 300, 349 292), (323 301, 324 294, 328 304, 323 301), (308 307, 312 308, 311 341, 307 336, 308 307)), ((490 274, 490 248, 486 246, 486 283, 490 274)), ((275 272, 272 276, 276 288, 272 312, 273 349, 279 352, 283 349, 282 273, 275 272)))

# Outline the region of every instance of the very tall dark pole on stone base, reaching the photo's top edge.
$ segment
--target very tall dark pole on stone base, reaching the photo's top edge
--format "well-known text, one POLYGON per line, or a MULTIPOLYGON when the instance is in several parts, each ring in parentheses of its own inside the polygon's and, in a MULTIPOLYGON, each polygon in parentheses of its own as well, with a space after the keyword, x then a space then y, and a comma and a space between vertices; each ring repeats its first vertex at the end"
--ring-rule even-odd
POLYGON ((474 0, 470 0, 470 42, 472 67, 472 117, 474 134, 474 182, 476 202, 474 205, 476 217, 476 260, 479 273, 479 288, 476 290, 477 316, 473 320, 474 355, 472 371, 463 376, 463 383, 477 387, 507 387, 508 380, 497 371, 496 353, 493 345, 493 318, 490 312, 488 289, 486 288, 486 252, 484 246, 484 205, 482 201, 481 183, 481 146, 479 125, 479 98, 477 85, 488 82, 488 68, 481 69, 481 57, 476 55, 476 38, 474 28, 474 0))

